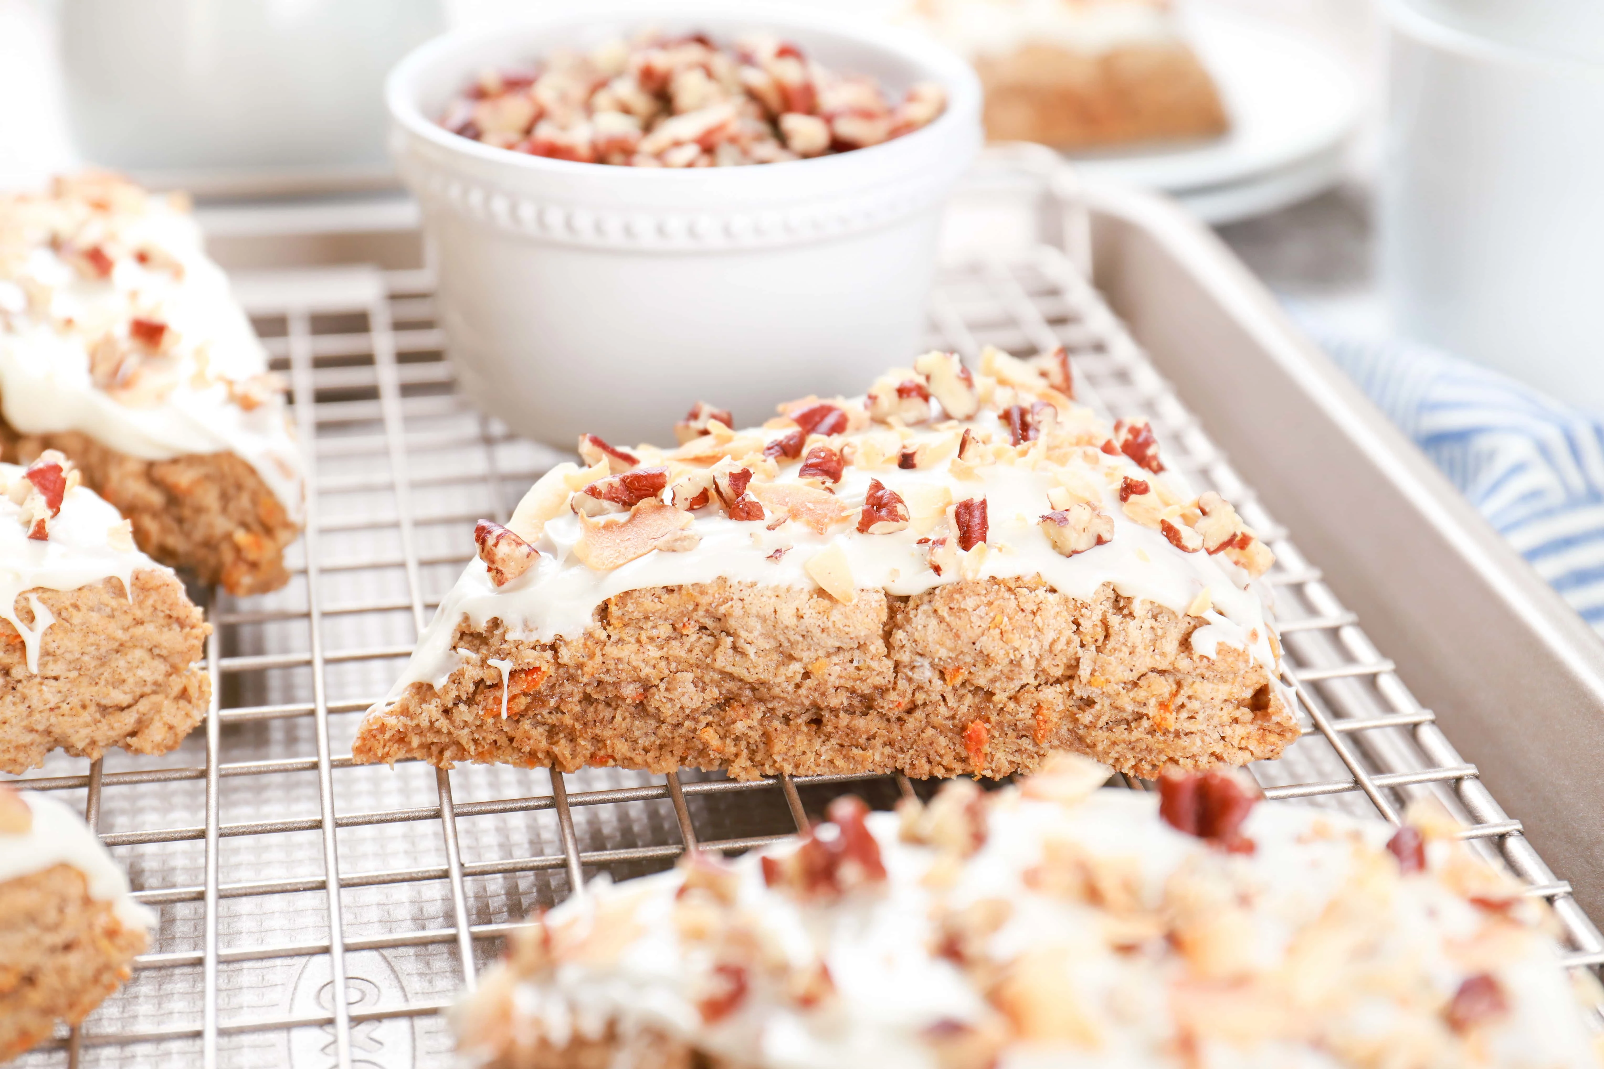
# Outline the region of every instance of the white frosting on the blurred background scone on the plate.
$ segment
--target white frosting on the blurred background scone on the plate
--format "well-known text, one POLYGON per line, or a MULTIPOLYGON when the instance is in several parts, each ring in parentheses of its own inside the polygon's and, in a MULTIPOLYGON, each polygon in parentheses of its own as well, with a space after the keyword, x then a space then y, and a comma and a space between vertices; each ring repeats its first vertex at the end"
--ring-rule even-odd
POLYGON ((914 0, 901 21, 969 58, 1009 56, 1027 45, 1100 54, 1179 38, 1161 0, 914 0))

